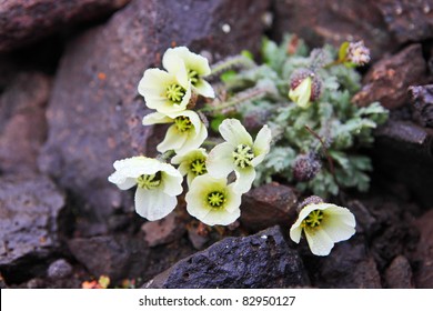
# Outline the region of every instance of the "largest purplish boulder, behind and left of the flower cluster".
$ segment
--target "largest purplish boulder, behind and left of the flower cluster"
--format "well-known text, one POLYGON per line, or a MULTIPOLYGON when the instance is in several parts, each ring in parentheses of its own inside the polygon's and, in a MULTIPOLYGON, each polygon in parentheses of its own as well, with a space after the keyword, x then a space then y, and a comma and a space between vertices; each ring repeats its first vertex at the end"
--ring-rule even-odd
POLYGON ((256 50, 263 26, 251 20, 260 20, 268 4, 135 0, 107 24, 77 38, 54 82, 40 169, 79 193, 100 220, 113 208, 131 208, 130 193, 109 184, 107 177, 114 160, 153 151, 153 146, 145 148, 152 127, 141 124, 149 111, 137 92, 143 71, 159 67, 172 44, 195 52, 207 49, 214 59, 256 50), (229 33, 222 30, 224 23, 231 26, 229 33))

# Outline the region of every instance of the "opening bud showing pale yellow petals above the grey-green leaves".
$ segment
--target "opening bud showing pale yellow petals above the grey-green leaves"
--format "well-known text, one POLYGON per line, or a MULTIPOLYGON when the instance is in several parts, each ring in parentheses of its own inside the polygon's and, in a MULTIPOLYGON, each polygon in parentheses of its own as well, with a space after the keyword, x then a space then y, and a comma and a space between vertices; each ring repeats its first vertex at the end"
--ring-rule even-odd
POLYGON ((289 98, 301 108, 309 108, 322 93, 322 82, 308 69, 300 69, 290 79, 289 98))

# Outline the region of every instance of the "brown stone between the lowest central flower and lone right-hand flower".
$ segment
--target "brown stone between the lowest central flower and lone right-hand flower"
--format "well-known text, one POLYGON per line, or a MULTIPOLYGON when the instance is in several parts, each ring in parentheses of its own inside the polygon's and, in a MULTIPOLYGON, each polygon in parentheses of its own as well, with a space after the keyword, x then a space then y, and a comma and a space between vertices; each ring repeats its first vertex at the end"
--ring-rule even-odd
POLYGON ((251 231, 294 222, 298 194, 293 188, 276 182, 258 187, 242 197, 241 223, 251 231))

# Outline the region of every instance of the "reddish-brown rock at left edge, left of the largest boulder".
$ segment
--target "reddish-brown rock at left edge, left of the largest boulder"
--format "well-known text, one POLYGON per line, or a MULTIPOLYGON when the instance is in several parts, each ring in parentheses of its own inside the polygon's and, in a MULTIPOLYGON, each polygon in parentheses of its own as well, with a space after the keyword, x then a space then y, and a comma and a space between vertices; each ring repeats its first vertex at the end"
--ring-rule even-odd
POLYGON ((0 170, 37 171, 39 150, 47 137, 44 107, 51 90, 49 77, 21 72, 0 96, 0 170))

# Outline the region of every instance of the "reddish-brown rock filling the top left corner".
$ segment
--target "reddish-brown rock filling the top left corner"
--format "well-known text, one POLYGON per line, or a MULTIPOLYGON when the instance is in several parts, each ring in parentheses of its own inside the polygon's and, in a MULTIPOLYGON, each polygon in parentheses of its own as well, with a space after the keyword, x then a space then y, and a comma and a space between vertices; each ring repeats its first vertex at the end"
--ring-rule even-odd
POLYGON ((0 52, 71 24, 107 17, 129 0, 8 0, 0 4, 0 52))

